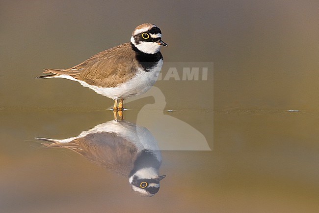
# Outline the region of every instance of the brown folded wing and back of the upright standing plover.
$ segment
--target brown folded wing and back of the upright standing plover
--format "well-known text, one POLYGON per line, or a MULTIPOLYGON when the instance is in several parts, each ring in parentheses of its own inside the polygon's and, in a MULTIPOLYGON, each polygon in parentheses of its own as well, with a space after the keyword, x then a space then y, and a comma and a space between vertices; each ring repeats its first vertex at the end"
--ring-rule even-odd
POLYGON ((43 73, 66 74, 90 85, 115 87, 131 79, 139 66, 131 43, 124 43, 100 52, 69 69, 45 69, 43 73))

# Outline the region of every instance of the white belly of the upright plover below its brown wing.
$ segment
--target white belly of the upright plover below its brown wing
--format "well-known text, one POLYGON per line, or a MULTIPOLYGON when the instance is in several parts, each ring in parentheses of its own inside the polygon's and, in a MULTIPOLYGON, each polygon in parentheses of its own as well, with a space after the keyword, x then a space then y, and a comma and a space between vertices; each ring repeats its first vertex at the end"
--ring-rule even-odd
POLYGON ((135 95, 143 94, 149 89, 151 89, 151 87, 155 84, 157 78, 159 77, 162 65, 163 60, 160 60, 157 63, 157 65, 154 66, 149 72, 145 72, 142 69, 138 69, 133 78, 131 78, 127 82, 124 82, 112 88, 102 88, 89 85, 84 81, 77 80, 68 75, 59 75, 56 77, 78 81, 82 86, 88 87, 89 89, 97 92, 98 94, 102 94, 108 98, 129 98, 135 95))

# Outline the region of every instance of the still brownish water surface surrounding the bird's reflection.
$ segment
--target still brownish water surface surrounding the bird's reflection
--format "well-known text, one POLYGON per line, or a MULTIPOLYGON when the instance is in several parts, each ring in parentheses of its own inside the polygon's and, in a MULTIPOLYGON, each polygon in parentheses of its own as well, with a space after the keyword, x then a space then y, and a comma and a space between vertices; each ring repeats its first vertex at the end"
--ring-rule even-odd
MULTIPOLYGON (((83 153, 46 148, 33 139, 75 137, 112 120, 110 110, 2 112, 1 121, 6 123, 1 127, 0 149, 3 213, 297 213, 315 212, 317 207, 318 137, 314 136, 318 133, 313 128, 318 125, 317 113, 216 111, 213 129, 206 126, 213 112, 162 111, 176 119, 193 118, 188 123, 205 136, 212 151, 161 151, 159 174, 166 177, 159 192, 146 198, 133 192, 127 174, 94 163, 83 153)), ((134 125, 139 113, 160 112, 131 109, 124 118, 134 125)), ((157 120, 149 117, 145 123, 156 125, 157 120)), ((158 127, 160 146, 167 137, 165 124, 158 127)), ((169 123, 166 127, 169 131, 169 123)), ((169 142, 176 143, 174 135, 169 142)), ((184 142, 177 143, 183 146, 184 142)))

